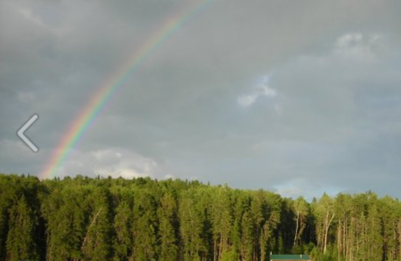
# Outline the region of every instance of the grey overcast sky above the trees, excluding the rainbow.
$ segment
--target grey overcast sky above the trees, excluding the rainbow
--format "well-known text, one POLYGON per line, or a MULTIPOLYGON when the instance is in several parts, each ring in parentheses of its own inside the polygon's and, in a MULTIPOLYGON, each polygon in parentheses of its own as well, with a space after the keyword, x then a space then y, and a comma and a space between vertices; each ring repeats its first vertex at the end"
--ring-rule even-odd
MULTIPOLYGON (((40 175, 71 124, 199 0, 0 0, 0 173, 40 175), (33 114, 26 135, 16 135, 33 114)), ((129 75, 55 176, 401 198, 401 2, 212 0, 129 75)))

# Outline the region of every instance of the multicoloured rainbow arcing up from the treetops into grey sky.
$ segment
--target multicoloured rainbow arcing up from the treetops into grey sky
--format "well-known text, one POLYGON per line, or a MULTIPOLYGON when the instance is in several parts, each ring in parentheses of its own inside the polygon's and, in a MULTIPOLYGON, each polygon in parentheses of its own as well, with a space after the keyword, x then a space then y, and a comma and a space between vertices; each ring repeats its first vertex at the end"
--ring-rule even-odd
POLYGON ((99 87, 99 91, 91 98, 84 110, 75 118, 68 131, 62 137, 55 153, 40 174, 40 179, 49 179, 63 165, 72 149, 82 139, 85 131, 91 126, 106 104, 116 94, 117 90, 135 73, 143 62, 162 45, 185 22, 194 18, 206 9, 214 0, 195 1, 177 15, 168 19, 143 45, 136 49, 127 61, 116 70, 106 83, 99 87))

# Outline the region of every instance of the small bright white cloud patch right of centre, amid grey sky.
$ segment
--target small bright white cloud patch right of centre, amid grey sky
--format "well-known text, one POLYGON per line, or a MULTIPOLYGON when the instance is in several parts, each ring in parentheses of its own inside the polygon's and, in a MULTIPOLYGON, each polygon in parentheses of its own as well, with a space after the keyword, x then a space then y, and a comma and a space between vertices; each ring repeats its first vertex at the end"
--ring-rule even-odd
POLYGON ((266 96, 270 98, 276 97, 277 91, 269 86, 269 80, 270 76, 263 76, 259 80, 259 83, 257 84, 255 90, 253 90, 253 92, 251 92, 250 94, 243 94, 238 97, 238 104, 240 104, 242 107, 248 107, 261 96, 266 96))

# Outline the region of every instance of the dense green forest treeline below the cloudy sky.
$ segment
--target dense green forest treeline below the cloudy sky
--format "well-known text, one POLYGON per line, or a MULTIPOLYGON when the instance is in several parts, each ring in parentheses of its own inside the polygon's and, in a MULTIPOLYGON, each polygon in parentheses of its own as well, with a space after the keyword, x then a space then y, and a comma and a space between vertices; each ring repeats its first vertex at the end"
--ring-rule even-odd
POLYGON ((0 260, 401 260, 401 202, 307 202, 197 181, 0 174, 0 260))

